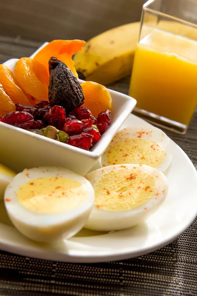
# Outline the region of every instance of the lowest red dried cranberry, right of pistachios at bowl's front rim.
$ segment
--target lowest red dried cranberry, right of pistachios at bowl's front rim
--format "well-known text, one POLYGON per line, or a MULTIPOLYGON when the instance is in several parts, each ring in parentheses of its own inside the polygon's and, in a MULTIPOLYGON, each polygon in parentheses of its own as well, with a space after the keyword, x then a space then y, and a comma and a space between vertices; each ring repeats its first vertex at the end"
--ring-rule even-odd
POLYGON ((87 133, 81 133, 80 135, 70 136, 66 144, 89 150, 93 145, 93 139, 94 136, 87 133))

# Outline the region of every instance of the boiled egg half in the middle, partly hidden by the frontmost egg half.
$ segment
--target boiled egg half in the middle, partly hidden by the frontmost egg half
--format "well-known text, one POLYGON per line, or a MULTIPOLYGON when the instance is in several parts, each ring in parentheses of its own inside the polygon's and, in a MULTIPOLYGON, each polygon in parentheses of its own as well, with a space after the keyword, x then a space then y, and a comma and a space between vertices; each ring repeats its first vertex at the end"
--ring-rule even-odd
POLYGON ((112 165, 86 175, 95 204, 85 228, 99 231, 132 227, 153 213, 167 194, 167 179, 147 165, 112 165))

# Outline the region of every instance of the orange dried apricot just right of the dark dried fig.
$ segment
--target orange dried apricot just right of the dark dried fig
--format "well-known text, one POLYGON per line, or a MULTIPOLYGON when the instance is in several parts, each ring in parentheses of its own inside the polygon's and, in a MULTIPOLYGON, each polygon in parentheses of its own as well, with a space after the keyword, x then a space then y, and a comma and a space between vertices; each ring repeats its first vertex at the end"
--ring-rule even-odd
POLYGON ((103 85, 87 81, 81 84, 85 101, 83 107, 90 109, 97 118, 103 110, 112 111, 112 99, 109 91, 103 85))

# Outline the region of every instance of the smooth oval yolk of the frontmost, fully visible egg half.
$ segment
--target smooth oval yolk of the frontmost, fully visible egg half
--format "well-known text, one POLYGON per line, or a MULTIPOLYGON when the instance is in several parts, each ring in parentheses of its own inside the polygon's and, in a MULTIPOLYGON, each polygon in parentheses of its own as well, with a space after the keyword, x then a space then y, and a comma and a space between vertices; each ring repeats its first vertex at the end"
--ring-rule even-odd
POLYGON ((84 185, 63 177, 46 177, 21 185, 16 193, 18 202, 38 214, 58 214, 72 210, 87 198, 84 185))

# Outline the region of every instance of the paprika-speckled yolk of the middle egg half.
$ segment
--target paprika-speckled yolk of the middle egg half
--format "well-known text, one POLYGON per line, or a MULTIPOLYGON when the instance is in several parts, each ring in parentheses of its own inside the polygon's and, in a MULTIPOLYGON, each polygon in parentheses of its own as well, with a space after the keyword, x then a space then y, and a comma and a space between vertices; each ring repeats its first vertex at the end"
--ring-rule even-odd
POLYGON ((126 211, 146 203, 156 191, 148 172, 137 168, 105 173, 95 183, 95 206, 108 211, 126 211))

